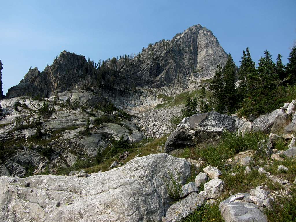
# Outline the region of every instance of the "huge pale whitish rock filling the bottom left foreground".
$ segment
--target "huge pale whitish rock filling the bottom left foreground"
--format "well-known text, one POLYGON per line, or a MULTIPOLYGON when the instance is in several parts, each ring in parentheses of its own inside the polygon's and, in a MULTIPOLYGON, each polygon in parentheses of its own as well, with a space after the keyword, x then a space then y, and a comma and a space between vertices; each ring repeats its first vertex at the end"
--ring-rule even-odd
MULTIPOLYGON (((172 199, 163 177, 190 163, 160 153, 88 177, 0 177, 0 221, 161 221, 172 199)), ((174 176, 177 176, 174 173, 174 176)))

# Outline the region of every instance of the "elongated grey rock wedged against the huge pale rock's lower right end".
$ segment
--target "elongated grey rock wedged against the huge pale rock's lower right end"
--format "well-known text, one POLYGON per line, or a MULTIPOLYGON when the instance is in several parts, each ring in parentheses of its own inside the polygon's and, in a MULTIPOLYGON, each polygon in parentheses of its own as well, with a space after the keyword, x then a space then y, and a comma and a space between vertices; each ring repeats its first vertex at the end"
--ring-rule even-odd
POLYGON ((185 199, 174 203, 166 212, 166 221, 181 221, 189 214, 193 213, 197 207, 205 204, 205 196, 203 194, 191 193, 185 199))

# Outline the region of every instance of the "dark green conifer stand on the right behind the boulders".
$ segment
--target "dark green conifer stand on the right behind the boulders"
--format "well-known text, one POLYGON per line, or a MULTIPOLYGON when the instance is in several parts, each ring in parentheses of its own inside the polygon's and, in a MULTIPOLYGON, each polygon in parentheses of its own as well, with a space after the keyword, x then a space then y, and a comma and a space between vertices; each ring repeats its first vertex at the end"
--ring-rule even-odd
POLYGON ((202 85, 197 99, 187 99, 183 116, 196 113, 197 107, 201 112, 215 110, 258 116, 277 109, 284 102, 291 102, 296 98, 296 47, 292 48, 287 65, 283 65, 281 58, 278 54, 274 63, 266 50, 256 67, 247 48, 243 50, 237 70, 229 54, 225 66, 217 66, 209 86, 210 96, 206 96, 202 85))

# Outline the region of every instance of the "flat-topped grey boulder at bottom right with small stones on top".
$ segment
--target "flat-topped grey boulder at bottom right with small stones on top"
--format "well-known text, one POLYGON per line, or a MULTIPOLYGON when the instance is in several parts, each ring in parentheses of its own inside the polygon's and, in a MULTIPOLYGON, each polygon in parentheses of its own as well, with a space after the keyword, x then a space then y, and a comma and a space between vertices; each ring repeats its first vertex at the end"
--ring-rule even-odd
MULTIPOLYGON (((244 197, 248 193, 241 193, 244 197)), ((267 222, 266 215, 259 209, 258 205, 249 202, 231 202, 232 195, 219 204, 219 210, 225 222, 267 222)))

